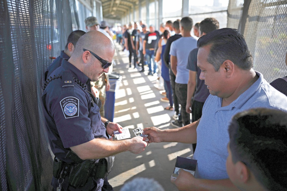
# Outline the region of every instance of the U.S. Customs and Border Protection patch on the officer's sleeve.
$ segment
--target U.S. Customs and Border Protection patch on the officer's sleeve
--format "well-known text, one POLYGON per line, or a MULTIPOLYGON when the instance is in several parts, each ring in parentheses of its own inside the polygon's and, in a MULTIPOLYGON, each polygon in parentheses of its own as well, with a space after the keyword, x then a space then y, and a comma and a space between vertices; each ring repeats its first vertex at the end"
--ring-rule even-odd
POLYGON ((75 97, 67 97, 62 99, 60 104, 66 119, 79 116, 79 99, 75 97))

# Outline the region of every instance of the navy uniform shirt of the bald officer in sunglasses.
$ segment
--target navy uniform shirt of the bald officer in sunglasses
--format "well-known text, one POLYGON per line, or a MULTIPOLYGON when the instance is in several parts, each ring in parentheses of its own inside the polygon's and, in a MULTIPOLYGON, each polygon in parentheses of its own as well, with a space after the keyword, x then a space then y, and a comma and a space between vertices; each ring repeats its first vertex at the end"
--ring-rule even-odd
MULTIPOLYGON (((82 88, 76 82, 66 83, 64 77, 53 79, 43 91, 42 102, 51 150, 56 157, 69 163, 72 162, 71 159, 65 159, 69 147, 86 143, 94 138, 108 138, 105 125, 101 121, 99 107, 92 104, 90 94, 85 91, 88 90, 90 79, 67 59, 63 59, 62 65, 52 74, 62 75, 63 71, 70 71, 85 87, 82 88)), ((93 181, 88 181, 86 186, 98 190, 102 187, 103 181, 93 178, 93 181)), ((52 185, 59 185, 55 178, 52 180, 52 185)), ((64 180, 63 187, 67 186, 64 180)))

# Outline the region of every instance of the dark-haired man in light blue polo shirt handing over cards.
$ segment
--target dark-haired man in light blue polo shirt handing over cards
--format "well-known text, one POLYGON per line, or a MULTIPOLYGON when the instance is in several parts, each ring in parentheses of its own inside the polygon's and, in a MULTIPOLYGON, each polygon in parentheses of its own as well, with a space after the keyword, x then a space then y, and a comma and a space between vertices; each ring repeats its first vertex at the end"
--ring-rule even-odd
POLYGON ((228 125, 238 112, 264 107, 287 112, 287 98, 255 72, 253 58, 237 29, 223 28, 199 38, 197 66, 211 95, 202 117, 180 129, 144 129, 152 142, 197 143, 195 176, 180 170, 171 182, 178 190, 238 190, 227 176, 228 125))

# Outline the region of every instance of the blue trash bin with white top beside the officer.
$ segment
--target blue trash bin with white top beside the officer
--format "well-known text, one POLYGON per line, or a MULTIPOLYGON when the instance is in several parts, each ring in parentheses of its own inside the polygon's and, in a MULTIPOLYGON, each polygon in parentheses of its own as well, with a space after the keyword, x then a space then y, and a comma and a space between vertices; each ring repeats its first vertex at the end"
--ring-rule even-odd
POLYGON ((115 92, 120 88, 122 76, 118 73, 111 72, 111 74, 108 74, 108 77, 111 87, 109 91, 106 91, 105 118, 113 122, 115 114, 115 92))

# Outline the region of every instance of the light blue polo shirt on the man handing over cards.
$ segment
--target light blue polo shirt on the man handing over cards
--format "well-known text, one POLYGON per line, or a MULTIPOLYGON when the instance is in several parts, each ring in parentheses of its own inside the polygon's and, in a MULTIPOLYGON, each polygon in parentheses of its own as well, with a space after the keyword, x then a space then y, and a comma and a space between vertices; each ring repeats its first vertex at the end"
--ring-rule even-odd
POLYGON ((233 115, 251 108, 264 107, 287 112, 286 95, 270 86, 263 75, 230 105, 221 107, 222 98, 209 95, 197 126, 197 145, 193 159, 197 160, 196 178, 219 180, 228 178, 226 159, 229 142, 228 125, 233 115))

